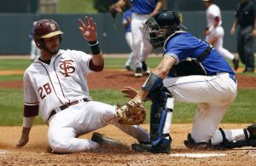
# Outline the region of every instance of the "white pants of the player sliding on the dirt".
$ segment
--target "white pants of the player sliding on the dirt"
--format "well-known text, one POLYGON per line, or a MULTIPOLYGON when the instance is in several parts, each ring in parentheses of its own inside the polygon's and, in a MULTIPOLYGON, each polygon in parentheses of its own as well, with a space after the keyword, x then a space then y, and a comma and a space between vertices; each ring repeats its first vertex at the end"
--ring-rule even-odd
POLYGON ((69 106, 49 119, 48 140, 53 152, 84 152, 98 147, 92 140, 79 139, 87 134, 113 124, 138 141, 150 140, 148 132, 138 125, 124 125, 116 121, 115 106, 89 101, 69 106))

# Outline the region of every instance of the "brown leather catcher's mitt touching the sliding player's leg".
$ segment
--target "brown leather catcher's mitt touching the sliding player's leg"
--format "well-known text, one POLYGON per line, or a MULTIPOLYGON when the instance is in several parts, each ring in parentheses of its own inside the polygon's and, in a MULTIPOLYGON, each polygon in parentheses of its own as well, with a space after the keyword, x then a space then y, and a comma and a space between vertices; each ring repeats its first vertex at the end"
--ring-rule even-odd
POLYGON ((116 117, 119 123, 136 125, 143 123, 146 118, 146 109, 143 104, 129 100, 125 106, 117 106, 116 117))

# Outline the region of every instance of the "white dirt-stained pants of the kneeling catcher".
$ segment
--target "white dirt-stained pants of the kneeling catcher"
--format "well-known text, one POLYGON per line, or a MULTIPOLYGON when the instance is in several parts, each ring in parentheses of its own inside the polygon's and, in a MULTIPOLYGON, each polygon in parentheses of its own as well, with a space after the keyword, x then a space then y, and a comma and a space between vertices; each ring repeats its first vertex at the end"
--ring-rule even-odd
POLYGON ((237 85, 228 73, 210 77, 172 77, 164 79, 163 83, 174 100, 198 103, 191 131, 195 142, 211 140, 228 106, 236 99, 237 85))

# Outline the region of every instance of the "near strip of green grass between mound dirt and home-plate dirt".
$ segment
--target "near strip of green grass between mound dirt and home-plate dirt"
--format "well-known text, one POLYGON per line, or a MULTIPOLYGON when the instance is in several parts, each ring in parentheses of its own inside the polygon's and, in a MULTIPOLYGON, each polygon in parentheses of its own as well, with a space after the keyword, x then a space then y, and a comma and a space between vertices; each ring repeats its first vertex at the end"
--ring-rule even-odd
MULTIPOLYGON (((102 101, 110 105, 119 103, 123 105, 127 99, 120 97, 119 90, 104 89, 90 90, 93 100, 102 101)), ((239 89, 235 102, 230 106, 224 116, 222 123, 253 123, 255 122, 256 102, 254 96, 256 89, 239 89)), ((148 110, 146 123, 149 122, 150 102, 145 106, 148 110)), ((173 112, 173 123, 192 123, 195 115, 195 104, 175 102, 173 112)), ((0 125, 13 126, 22 124, 23 113, 23 90, 22 89, 0 89, 0 125)), ((43 124, 40 116, 36 118, 35 124, 43 124)))

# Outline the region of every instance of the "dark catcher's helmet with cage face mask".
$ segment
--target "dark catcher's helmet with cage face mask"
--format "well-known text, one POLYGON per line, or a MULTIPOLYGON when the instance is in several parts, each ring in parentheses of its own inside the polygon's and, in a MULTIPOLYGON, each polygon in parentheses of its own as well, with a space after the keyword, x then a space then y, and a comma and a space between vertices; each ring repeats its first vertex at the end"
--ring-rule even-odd
POLYGON ((174 10, 164 10, 154 14, 144 26, 146 38, 154 49, 163 47, 166 38, 179 29, 187 28, 181 24, 179 15, 174 10))

